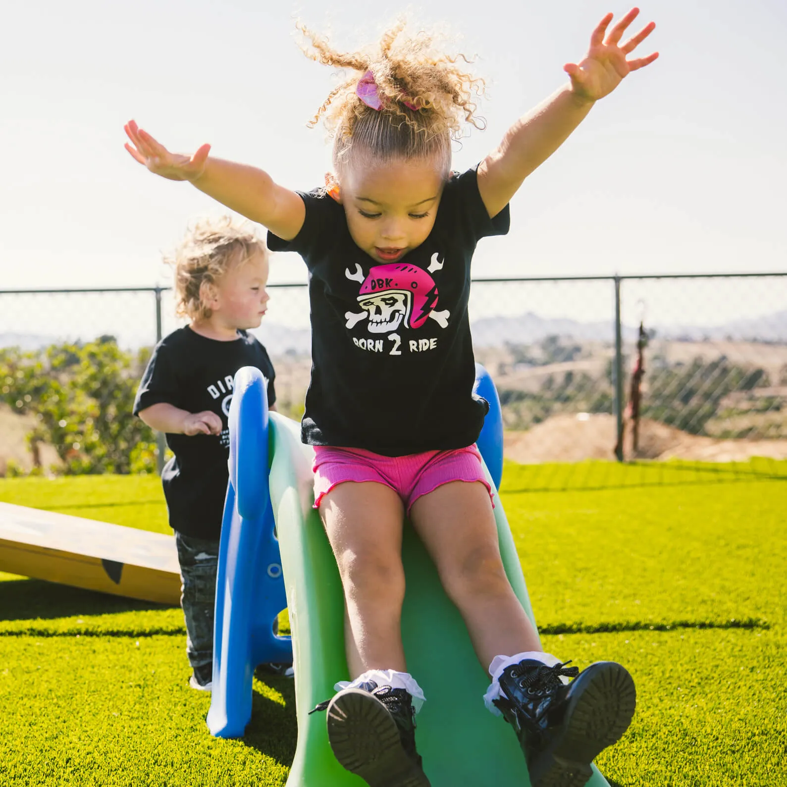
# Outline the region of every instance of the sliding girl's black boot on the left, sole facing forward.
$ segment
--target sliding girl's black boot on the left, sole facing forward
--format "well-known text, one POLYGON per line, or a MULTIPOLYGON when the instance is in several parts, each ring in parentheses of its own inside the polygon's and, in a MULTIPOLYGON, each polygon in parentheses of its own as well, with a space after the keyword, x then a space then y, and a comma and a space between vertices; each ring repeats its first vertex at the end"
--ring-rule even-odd
POLYGON ((324 710, 328 741, 342 767, 370 787, 430 787, 416 752, 412 696, 405 689, 369 681, 314 709, 324 710))

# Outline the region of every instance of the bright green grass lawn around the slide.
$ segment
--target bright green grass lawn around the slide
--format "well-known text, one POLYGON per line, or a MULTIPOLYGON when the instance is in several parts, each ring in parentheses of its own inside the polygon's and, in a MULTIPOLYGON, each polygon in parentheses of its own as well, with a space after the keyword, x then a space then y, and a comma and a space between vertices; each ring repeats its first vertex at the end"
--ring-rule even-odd
MULTIPOLYGON (((784 464, 587 463, 571 484, 507 464, 545 648, 579 667, 619 660, 637 682, 634 722, 598 760, 611 781, 787 785, 784 464)), ((157 478, 9 479, 0 500, 168 532, 157 478)), ((0 785, 284 784, 291 682, 255 680, 246 737, 216 740, 178 609, 0 580, 0 785)))

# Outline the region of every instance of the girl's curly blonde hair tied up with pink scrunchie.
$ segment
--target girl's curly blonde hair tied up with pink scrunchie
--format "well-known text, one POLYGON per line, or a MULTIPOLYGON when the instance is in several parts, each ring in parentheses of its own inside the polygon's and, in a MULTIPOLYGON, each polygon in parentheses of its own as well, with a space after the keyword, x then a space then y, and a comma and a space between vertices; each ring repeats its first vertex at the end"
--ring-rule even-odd
POLYGON ((352 73, 328 95, 309 122, 323 120, 334 138, 334 168, 341 172, 356 152, 371 154, 382 163, 396 158, 438 158, 447 175, 451 142, 459 139, 465 124, 486 127, 478 116, 474 96, 483 94, 483 79, 459 65, 469 63, 458 54, 439 52, 434 37, 425 31, 401 35, 400 20, 382 35, 375 48, 342 53, 325 37, 297 23, 307 57, 352 73), (382 109, 372 109, 356 93, 359 80, 371 71, 382 109), (413 105, 415 109, 408 107, 413 105))

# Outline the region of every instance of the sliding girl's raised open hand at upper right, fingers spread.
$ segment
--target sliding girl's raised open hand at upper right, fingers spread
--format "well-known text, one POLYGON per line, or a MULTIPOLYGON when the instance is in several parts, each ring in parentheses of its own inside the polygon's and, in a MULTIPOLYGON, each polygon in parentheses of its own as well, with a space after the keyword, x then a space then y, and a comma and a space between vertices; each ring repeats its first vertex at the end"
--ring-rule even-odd
POLYGON ((585 59, 579 64, 567 63, 563 66, 563 71, 571 77, 571 90, 578 98, 587 102, 604 98, 618 87, 629 72, 636 71, 637 68, 642 68, 659 57, 659 53, 654 52, 648 57, 626 60, 626 55, 633 52, 656 28, 656 23, 650 22, 637 35, 633 35, 621 44, 623 33, 638 13, 638 8, 631 9, 618 24, 615 24, 604 40, 604 34, 613 17, 613 14, 608 13, 590 36, 590 48, 585 59))

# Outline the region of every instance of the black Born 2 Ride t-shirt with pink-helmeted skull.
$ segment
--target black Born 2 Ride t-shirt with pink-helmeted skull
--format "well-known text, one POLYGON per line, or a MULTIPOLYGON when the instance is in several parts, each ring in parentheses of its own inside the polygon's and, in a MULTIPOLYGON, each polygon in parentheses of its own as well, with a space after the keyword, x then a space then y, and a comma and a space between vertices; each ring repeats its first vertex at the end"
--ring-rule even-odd
POLYGON ((508 232, 508 206, 490 219, 475 168, 453 173, 427 239, 383 264, 353 242, 342 205, 322 190, 299 194, 301 231, 289 242, 268 233, 268 247, 309 268, 304 442, 384 456, 471 445, 488 405, 472 393, 470 264, 480 238, 508 232))

